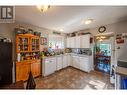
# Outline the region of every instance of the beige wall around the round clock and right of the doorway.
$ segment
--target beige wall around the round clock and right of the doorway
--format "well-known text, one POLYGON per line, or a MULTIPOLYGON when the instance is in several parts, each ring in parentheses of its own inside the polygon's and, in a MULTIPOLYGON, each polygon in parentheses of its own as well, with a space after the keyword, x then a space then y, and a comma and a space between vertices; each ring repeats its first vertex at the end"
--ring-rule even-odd
MULTIPOLYGON (((127 33, 127 21, 121 21, 121 22, 117 22, 117 23, 113 23, 113 24, 109 24, 109 25, 105 25, 106 27, 106 31, 105 33, 127 33)), ((92 28, 92 29, 87 29, 87 30, 81 30, 79 32, 90 32, 93 36, 99 35, 103 33, 99 33, 98 32, 98 28, 92 28)), ((115 40, 115 38, 113 38, 115 40)), ((115 49, 116 45, 115 45, 115 41, 112 39, 111 43, 112 43, 112 56, 111 56, 111 64, 116 64, 118 59, 121 60, 125 60, 127 61, 127 40, 126 40, 126 45, 121 46, 121 51, 115 49), (115 51, 114 51, 115 50, 115 51), (116 55, 119 55, 118 58, 116 58, 116 55)))

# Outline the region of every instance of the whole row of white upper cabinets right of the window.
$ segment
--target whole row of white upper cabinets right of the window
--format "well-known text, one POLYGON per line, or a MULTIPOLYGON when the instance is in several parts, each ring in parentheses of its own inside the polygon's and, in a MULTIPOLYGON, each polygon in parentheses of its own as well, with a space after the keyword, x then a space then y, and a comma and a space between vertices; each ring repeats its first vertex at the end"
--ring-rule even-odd
POLYGON ((90 34, 67 38, 67 48, 90 48, 90 34))

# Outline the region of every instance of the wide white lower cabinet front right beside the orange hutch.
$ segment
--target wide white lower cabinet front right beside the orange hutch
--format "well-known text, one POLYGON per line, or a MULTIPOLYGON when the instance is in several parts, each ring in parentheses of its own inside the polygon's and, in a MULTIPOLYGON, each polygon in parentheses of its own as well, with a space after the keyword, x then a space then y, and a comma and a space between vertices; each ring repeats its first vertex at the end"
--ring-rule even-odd
POLYGON ((43 62, 43 75, 47 76, 56 71, 56 58, 45 58, 43 62))

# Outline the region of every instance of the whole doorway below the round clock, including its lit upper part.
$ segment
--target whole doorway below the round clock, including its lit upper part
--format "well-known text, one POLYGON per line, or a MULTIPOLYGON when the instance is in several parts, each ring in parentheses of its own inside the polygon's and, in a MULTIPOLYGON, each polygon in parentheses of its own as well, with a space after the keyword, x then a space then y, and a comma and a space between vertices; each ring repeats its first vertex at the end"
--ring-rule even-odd
POLYGON ((107 74, 111 72, 113 63, 114 35, 99 35, 95 37, 94 69, 107 74))

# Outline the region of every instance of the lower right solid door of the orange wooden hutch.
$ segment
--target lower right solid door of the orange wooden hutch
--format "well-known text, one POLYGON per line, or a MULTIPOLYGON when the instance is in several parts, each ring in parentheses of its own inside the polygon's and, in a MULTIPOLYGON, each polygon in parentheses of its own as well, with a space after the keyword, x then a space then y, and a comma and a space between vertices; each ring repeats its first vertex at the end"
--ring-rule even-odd
POLYGON ((40 61, 36 61, 31 64, 31 71, 34 77, 40 75, 40 70, 41 70, 40 61))

